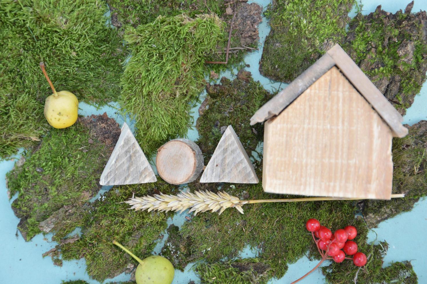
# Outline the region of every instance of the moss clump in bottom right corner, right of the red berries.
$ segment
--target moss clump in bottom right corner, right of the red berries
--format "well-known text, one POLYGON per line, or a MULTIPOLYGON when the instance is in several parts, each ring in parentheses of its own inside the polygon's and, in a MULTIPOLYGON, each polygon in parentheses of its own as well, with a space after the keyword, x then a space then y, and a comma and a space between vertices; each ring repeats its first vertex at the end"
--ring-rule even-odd
MULTIPOLYGON (((368 261, 363 268, 345 260, 340 264, 332 262, 322 267, 328 283, 417 283, 417 275, 409 261, 395 262, 383 268, 383 258, 387 253, 388 245, 385 241, 374 245, 366 243, 368 229, 360 220, 357 227, 357 246, 360 252, 365 253, 368 261)), ((310 276, 309 276, 310 277, 310 276)))

